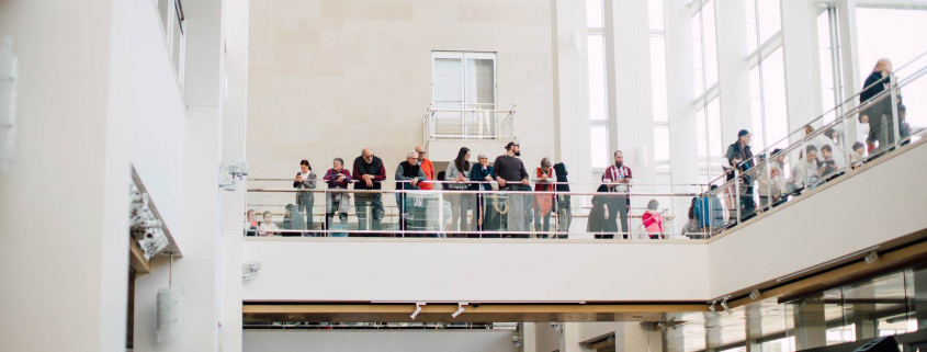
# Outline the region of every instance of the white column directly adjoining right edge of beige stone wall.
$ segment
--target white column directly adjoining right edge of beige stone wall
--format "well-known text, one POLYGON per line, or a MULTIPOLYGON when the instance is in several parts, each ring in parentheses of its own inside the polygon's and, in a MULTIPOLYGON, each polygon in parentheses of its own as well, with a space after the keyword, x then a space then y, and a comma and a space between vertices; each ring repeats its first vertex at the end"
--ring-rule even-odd
POLYGON ((586 2, 551 0, 555 159, 567 162, 572 182, 591 179, 586 2), (578 39, 579 47, 574 47, 578 39))

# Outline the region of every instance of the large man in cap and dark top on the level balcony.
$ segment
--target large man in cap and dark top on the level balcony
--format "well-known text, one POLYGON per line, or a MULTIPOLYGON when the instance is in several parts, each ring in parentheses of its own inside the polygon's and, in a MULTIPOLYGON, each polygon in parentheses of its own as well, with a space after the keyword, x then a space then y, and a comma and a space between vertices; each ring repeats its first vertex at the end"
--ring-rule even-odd
MULTIPOLYGON (((521 148, 518 141, 509 141, 506 145, 506 154, 496 158, 493 162, 493 178, 499 182, 499 191, 531 191, 528 189, 528 170, 524 169, 524 163, 521 159, 516 158, 521 156, 521 148)), ((525 200, 531 195, 508 193, 508 208, 502 209, 507 213, 504 217, 507 224, 502 225, 502 230, 509 231, 527 231, 531 212, 531 202, 525 200)), ((515 237, 522 237, 516 235, 515 237)))

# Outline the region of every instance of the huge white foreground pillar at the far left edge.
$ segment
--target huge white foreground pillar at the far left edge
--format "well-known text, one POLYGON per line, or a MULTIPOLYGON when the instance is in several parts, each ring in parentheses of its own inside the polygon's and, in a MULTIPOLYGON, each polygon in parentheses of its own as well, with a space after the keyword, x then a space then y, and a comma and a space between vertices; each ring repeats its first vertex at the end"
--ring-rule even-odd
POLYGON ((124 87, 110 75, 120 5, 0 2, 19 58, 16 154, 0 174, 4 351, 125 351, 129 139, 125 102, 109 99, 124 87))

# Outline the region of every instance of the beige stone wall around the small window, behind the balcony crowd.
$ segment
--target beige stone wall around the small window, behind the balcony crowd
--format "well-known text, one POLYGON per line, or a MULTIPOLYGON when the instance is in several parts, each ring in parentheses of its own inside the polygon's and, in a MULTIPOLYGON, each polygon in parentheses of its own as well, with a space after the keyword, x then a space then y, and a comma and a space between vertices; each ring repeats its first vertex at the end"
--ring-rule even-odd
POLYGON ((525 163, 535 164, 553 152, 550 3, 251 1, 251 175, 291 178, 304 158, 324 172, 334 157, 350 164, 365 146, 392 174, 421 140, 432 50, 497 53, 498 102, 517 104, 516 134, 525 163))

